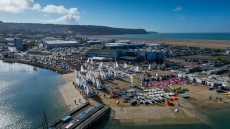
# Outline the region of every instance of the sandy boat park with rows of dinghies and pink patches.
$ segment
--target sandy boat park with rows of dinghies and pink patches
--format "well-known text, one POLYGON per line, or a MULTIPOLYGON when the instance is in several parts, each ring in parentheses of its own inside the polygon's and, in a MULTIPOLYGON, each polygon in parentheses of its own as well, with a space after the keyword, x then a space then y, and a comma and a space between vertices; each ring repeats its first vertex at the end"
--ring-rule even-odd
MULTIPOLYGON (((106 69, 107 66, 110 66, 115 70, 118 65, 118 73, 115 76, 112 72, 109 78, 100 78, 100 84, 104 89, 98 88, 97 83, 95 86, 89 84, 93 94, 87 99, 92 104, 100 102, 109 105, 113 111, 110 118, 121 122, 196 120, 199 117, 197 107, 230 102, 227 95, 219 94, 207 86, 194 83, 191 79, 170 71, 157 69, 150 71, 148 68, 139 67, 138 72, 135 72, 136 66, 118 63, 98 62, 94 65, 90 63, 84 65, 85 68, 91 70, 91 73, 92 71, 98 72, 98 79, 108 75, 108 71, 100 73, 98 69, 106 69), (94 68, 91 69, 91 67, 94 68), (119 69, 123 70, 119 71, 119 69), (123 72, 125 69, 132 69, 133 73, 123 72), (151 81, 145 81, 147 78, 151 81), (170 100, 170 103, 167 100, 170 100)), ((87 70, 82 70, 82 76, 86 78, 83 71, 87 70)), ((84 92, 84 88, 79 90, 84 92)))

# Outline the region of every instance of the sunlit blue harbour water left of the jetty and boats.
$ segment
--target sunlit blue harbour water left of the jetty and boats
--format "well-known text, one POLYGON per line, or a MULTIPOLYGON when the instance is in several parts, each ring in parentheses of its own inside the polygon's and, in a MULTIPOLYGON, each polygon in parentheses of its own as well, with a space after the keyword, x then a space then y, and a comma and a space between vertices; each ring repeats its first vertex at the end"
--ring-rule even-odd
POLYGON ((0 60, 0 129, 37 129, 45 110, 49 121, 67 111, 58 85, 60 74, 0 60))

